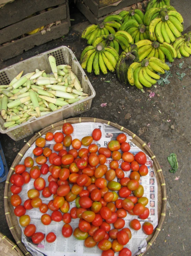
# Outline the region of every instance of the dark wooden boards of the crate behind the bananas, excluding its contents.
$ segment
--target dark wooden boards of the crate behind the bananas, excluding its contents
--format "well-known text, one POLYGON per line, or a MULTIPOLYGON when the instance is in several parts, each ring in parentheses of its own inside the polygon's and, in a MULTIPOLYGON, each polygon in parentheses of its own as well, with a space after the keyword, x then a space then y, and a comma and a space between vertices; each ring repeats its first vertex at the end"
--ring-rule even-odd
MULTIPOLYGON (((77 0, 77 7, 80 9, 80 11, 83 13, 84 16, 88 15, 90 16, 90 13, 92 12, 93 16, 92 19, 97 18, 98 20, 100 20, 99 18, 101 18, 104 15, 110 14, 113 11, 117 11, 119 9, 122 9, 124 7, 133 5, 134 3, 139 2, 140 0, 122 0, 121 2, 119 2, 118 5, 107 5, 107 6, 103 6, 103 7, 99 7, 99 4, 95 1, 95 0, 77 0), (86 8, 86 7, 87 8, 86 8), (82 11, 83 9, 83 11, 82 11), (89 9, 89 11, 87 11, 87 9, 89 9), (85 14, 86 15, 85 15, 85 14)), ((92 15, 91 14, 91 15, 92 15)), ((86 16, 87 19, 89 19, 86 16)), ((91 22, 91 20, 90 20, 91 22)))

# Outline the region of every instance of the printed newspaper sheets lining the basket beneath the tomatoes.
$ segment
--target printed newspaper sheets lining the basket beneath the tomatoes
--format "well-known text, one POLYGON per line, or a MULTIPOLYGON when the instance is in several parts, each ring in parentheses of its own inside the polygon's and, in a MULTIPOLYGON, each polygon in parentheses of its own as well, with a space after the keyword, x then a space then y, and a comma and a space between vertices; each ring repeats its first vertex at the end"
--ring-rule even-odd
MULTIPOLYGON (((78 139, 82 139, 84 136, 88 136, 92 134, 93 129, 95 128, 99 128, 102 132, 102 138, 99 141, 93 141, 92 143, 95 143, 98 145, 98 147, 107 147, 107 144, 110 140, 115 140, 117 138, 117 136, 120 133, 123 133, 121 131, 119 131, 118 129, 109 126, 107 124, 101 124, 101 123, 77 123, 77 124, 73 124, 74 127, 74 132, 71 134, 72 135, 72 139, 78 138, 78 139)), ((61 130, 59 130, 61 131, 61 130)), ((56 131, 58 132, 58 131, 56 131)), ((55 132, 55 133, 56 133, 55 132)), ((125 133, 125 135, 127 136, 127 142, 130 143, 131 145, 131 149, 130 152, 133 153, 134 155, 141 151, 135 144, 133 144, 131 142, 132 137, 129 136, 128 134, 125 133)), ((45 135, 43 135, 42 137, 45 138, 45 135)), ((53 141, 47 141, 46 142, 46 146, 45 147, 49 147, 52 152, 55 152, 53 150, 53 145, 55 144, 54 140, 53 141)), ((31 147, 28 149, 28 151, 25 153, 24 157, 22 158, 20 164, 24 163, 24 159, 27 156, 31 156, 34 159, 34 165, 38 165, 35 161, 36 156, 33 155, 33 149, 36 147, 35 143, 33 143, 31 145, 31 147)), ((83 148, 88 148, 88 147, 84 147, 83 148)), ((64 148, 63 148, 64 149, 64 148)), ((70 146, 69 148, 66 148, 66 150, 68 151, 69 149, 72 149, 72 146, 70 146)), ((105 165, 108 166, 109 169, 109 163, 112 159, 111 158, 107 158, 107 161, 105 163, 105 165)), ((121 167, 121 163, 122 163, 122 159, 118 161, 119 162, 119 168, 121 167)), ((47 161, 47 164, 50 166, 50 162, 47 161)), ((146 196, 149 200, 148 205, 146 205, 149 210, 150 210, 150 215, 148 217, 148 219, 146 220, 141 220, 138 216, 135 215, 130 215, 127 213, 127 216, 124 218, 125 220, 125 226, 124 227, 128 227, 129 223, 132 219, 139 219, 140 223, 141 223, 141 229, 138 231, 135 231, 133 229, 130 228, 131 232, 132 232, 132 238, 130 239, 130 241, 128 242, 127 245, 125 245, 124 247, 128 247, 131 251, 132 251, 132 256, 135 256, 143 251, 145 251, 145 247, 147 246, 147 242, 145 240, 145 238, 147 238, 147 235, 145 235, 145 233, 142 231, 142 224, 145 221, 149 221, 153 224, 153 227, 155 228, 158 224, 158 209, 157 209, 157 205, 158 205, 158 188, 157 188, 157 179, 155 178, 154 175, 154 170, 153 170, 153 166, 152 166, 152 160, 150 157, 147 156, 147 167, 149 169, 149 173, 147 176, 141 177, 140 179, 140 184, 143 185, 144 187, 144 195, 146 196)), ((39 165, 38 165, 39 166, 39 165)), ((39 166, 40 168, 40 166, 39 166)), ((27 171, 30 171, 30 168, 27 168, 27 171)), ((125 177, 129 177, 131 171, 124 171, 125 177)), ((48 186, 48 176, 50 175, 50 173, 46 174, 46 175, 41 175, 41 177, 43 177, 46 181, 46 186, 48 186)), ((115 181, 118 181, 117 177, 115 177, 114 179, 115 181)), ((22 188, 21 193, 19 194, 22 202, 24 202, 25 200, 27 200, 27 191, 31 188, 34 188, 33 185, 34 180, 31 179, 30 182, 28 184, 25 184, 22 188)), ((72 186, 72 185, 71 185, 72 186)), ((49 197, 49 198, 44 198, 42 196, 42 191, 40 191, 40 198, 42 199, 43 203, 48 204, 48 202, 50 200, 53 199, 53 196, 49 197)), ((120 198, 120 197, 119 197, 120 198)), ((122 198, 124 199, 124 198, 122 198)), ((75 201, 70 203, 70 210, 76 206, 75 201)), ((70 212, 69 210, 69 212, 70 212)), ((83 256, 97 256, 97 255, 101 255, 101 250, 96 246, 93 248, 87 248, 84 247, 84 241, 79 241, 77 240, 73 235, 69 238, 64 238, 62 236, 62 227, 64 225, 63 221, 61 222, 55 222, 52 221, 48 226, 45 226, 41 223, 41 215, 42 213, 40 212, 39 208, 33 208, 32 210, 27 210, 26 214, 29 214, 31 217, 31 222, 36 225, 37 227, 37 231, 36 232, 42 232, 44 233, 44 236, 46 238, 46 235, 49 232, 54 232, 57 236, 57 239, 55 242, 53 243, 48 243, 46 242, 46 239, 44 239, 40 244, 38 245, 34 245, 32 243, 31 237, 26 237, 23 235, 22 232, 22 242, 26 245, 26 248, 30 251, 30 253, 34 256, 43 256, 47 255, 47 256, 61 256, 64 254, 69 255, 69 256, 77 256, 79 255, 83 255, 83 256)), ((47 211, 47 214, 52 214, 51 210, 47 211)), ((18 218, 19 220, 19 218, 18 218)), ((78 223, 79 223, 79 219, 72 219, 72 221, 70 222, 71 227, 73 228, 73 231, 76 227, 78 227, 78 223)), ((22 228, 22 231, 24 231, 24 228, 22 228)), ((111 229, 113 229, 113 224, 111 224, 111 229)), ((111 239, 109 239, 111 240, 111 239)), ((111 240, 112 241, 112 240, 111 240)))

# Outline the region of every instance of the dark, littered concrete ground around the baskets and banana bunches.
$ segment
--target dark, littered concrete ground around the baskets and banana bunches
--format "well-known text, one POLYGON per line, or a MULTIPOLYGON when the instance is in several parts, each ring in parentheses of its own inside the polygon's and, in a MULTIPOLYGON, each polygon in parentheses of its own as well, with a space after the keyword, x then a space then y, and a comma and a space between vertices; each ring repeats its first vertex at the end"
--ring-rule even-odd
MULTIPOLYGON (((185 30, 191 30, 190 1, 172 0, 171 5, 184 17, 185 30)), ((0 62, 0 69, 60 45, 69 46, 79 60, 82 49, 87 46, 80 38, 80 34, 89 22, 78 10, 73 7, 71 10, 71 18, 75 21, 72 22, 73 26, 68 36, 0 62)), ((135 87, 120 84, 115 74, 108 73, 105 76, 95 77, 92 73, 88 77, 96 90, 96 97, 92 101, 91 109, 81 115, 81 117, 96 117, 118 123, 138 134, 143 141, 151 143, 151 149, 163 169, 168 207, 162 230, 146 254, 148 256, 191 255, 191 57, 175 59, 170 72, 169 84, 157 85, 156 88, 151 89, 145 88, 145 93, 135 87), (179 65, 181 63, 182 66, 179 65), (177 73, 185 73, 182 80, 177 73), (151 91, 155 93, 152 98, 149 97, 151 91), (101 107, 101 103, 107 103, 107 106, 101 107), (167 156, 172 152, 177 154, 179 162, 175 174, 168 171, 170 165, 167 156)), ((32 135, 25 140, 28 141, 31 137, 32 135)), ((7 135, 0 134, 0 141, 7 165, 10 167, 17 152, 25 144, 24 139, 15 142, 7 135)), ((0 232, 13 240, 4 215, 4 184, 0 184, 0 232)))

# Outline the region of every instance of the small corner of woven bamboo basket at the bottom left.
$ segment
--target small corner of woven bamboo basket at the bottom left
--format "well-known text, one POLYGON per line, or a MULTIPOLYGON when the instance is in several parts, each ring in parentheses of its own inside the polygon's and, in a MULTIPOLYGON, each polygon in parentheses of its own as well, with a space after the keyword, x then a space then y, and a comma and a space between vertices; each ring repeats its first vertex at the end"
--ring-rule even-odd
POLYGON ((0 255, 2 256, 23 256, 24 254, 7 236, 0 233, 0 255))

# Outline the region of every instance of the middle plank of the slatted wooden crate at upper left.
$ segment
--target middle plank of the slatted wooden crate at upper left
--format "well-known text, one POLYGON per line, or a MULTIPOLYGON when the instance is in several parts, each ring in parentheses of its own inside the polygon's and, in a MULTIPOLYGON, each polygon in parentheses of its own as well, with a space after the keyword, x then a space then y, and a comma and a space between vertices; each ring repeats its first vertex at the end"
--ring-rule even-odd
POLYGON ((46 26, 54 21, 67 18, 66 3, 61 7, 43 12, 42 14, 24 19, 0 30, 0 44, 10 41, 13 38, 26 34, 38 27, 46 26))

